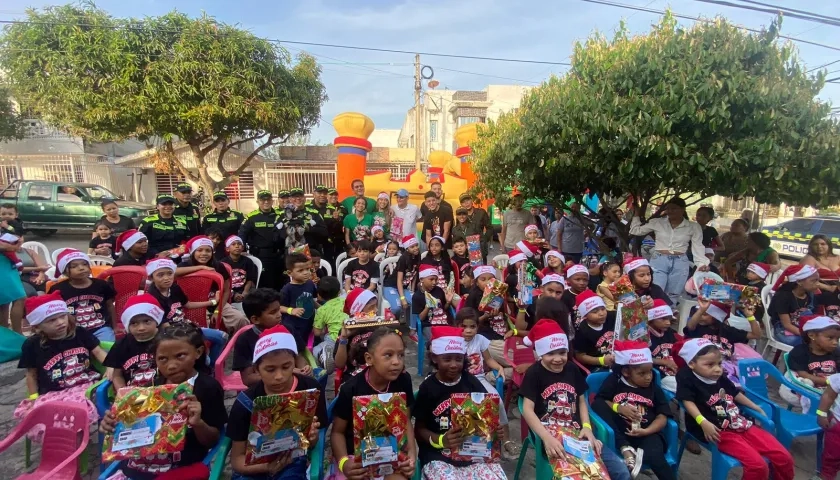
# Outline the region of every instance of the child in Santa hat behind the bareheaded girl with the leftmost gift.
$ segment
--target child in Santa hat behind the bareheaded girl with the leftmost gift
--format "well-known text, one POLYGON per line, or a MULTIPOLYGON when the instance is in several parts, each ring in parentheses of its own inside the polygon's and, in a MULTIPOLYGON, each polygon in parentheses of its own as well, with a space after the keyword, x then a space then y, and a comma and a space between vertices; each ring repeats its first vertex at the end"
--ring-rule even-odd
POLYGON ((144 293, 128 299, 122 321, 126 335, 117 340, 104 365, 114 369, 114 389, 125 386, 151 387, 155 372, 155 337, 163 320, 163 309, 155 297, 144 293))

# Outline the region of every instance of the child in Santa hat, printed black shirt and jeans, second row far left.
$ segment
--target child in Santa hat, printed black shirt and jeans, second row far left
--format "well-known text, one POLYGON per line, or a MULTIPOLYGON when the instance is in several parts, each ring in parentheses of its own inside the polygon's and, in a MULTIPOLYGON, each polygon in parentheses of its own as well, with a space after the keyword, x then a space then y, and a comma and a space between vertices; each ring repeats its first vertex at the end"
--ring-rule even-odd
POLYGON ((75 322, 99 340, 116 340, 111 324, 116 317, 114 287, 105 280, 90 278, 90 257, 78 250, 64 249, 56 263, 56 278, 64 274, 68 280, 58 282, 53 290, 67 303, 75 322))

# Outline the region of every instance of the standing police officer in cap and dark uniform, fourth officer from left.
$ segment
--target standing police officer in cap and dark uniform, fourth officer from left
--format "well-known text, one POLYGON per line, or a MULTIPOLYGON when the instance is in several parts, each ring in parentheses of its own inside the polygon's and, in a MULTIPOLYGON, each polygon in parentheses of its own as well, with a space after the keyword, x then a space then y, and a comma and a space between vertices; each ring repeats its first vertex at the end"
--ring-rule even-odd
POLYGON ((285 232, 280 214, 274 209, 274 199, 268 190, 257 192, 259 208, 245 216, 239 228, 239 236, 248 246, 251 255, 263 264, 260 287, 279 289, 286 282, 283 272, 283 248, 285 232))

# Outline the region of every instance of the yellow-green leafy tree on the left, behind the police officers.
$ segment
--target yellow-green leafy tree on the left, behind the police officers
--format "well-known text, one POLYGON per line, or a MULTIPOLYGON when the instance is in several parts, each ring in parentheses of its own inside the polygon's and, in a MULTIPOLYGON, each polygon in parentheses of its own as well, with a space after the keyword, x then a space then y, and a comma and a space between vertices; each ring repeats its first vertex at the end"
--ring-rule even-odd
POLYGON ((119 19, 67 5, 27 17, 0 38, 16 98, 85 139, 158 137, 158 163, 206 191, 228 185, 260 152, 308 135, 327 98, 311 56, 293 62, 283 48, 207 16, 119 19), (180 142, 194 165, 176 155, 180 142))

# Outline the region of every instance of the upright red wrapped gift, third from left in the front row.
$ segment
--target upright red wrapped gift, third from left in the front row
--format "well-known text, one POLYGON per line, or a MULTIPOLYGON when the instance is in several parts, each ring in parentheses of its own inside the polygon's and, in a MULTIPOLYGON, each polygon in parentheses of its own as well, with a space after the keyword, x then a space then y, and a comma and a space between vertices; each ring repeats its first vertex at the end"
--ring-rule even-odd
POLYGON ((370 476, 396 471, 398 455, 408 444, 408 417, 405 393, 353 397, 353 452, 370 476))

